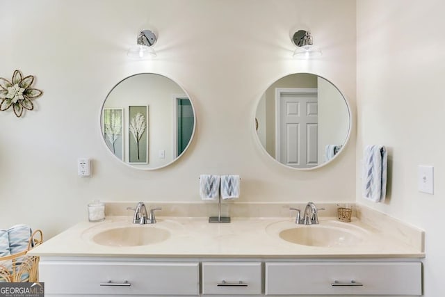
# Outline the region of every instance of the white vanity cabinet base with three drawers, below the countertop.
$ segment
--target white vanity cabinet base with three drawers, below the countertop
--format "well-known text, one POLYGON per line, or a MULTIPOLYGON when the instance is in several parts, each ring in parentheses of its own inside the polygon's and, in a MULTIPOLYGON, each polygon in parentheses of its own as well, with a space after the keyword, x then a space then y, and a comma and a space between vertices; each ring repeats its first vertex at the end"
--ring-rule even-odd
POLYGON ((45 296, 421 296, 417 259, 41 257, 45 296))

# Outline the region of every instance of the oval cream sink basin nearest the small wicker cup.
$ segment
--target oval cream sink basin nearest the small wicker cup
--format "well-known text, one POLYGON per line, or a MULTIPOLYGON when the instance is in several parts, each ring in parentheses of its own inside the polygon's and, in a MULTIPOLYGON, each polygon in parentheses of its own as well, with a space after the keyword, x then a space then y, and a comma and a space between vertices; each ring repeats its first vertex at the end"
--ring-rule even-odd
POLYGON ((309 225, 294 227, 280 232, 280 238, 303 246, 352 246, 360 243, 363 238, 341 227, 325 227, 309 225))

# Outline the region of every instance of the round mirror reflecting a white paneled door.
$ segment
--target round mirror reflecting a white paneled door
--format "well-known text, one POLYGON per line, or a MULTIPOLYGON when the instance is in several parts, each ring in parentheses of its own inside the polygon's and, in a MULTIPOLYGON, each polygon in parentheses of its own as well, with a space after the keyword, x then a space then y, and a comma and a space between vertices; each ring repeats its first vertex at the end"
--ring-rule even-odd
POLYGON ((254 119, 259 142, 285 166, 307 170, 330 162, 348 141, 348 102, 330 81, 291 74, 261 96, 254 119))

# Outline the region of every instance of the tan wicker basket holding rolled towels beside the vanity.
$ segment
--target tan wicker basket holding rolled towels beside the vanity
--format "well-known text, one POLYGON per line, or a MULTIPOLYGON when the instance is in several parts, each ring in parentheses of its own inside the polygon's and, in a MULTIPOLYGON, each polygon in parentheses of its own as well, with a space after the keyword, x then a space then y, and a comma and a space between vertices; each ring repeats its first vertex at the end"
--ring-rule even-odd
POLYGON ((38 256, 27 256, 31 248, 43 242, 42 230, 35 230, 23 252, 0 257, 0 282, 38 282, 38 256))

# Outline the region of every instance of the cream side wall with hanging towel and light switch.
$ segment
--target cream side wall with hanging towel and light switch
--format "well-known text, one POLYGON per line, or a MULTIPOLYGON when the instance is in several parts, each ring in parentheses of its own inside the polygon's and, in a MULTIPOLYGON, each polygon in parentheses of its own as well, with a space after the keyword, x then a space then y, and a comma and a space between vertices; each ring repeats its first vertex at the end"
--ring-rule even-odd
POLYGON ((389 150, 389 191, 370 207, 426 231, 424 289, 444 296, 445 2, 357 1, 357 197, 364 145, 389 150), (418 166, 435 166, 435 193, 419 193, 418 166))

